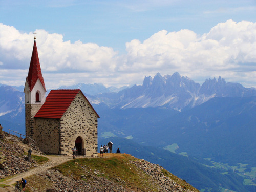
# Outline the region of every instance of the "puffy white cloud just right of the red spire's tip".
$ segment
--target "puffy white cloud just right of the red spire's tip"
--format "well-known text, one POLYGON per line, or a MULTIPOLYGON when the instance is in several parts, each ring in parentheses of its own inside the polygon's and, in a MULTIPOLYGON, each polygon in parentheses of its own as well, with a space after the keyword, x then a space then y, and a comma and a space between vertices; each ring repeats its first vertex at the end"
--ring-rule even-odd
POLYGON ((95 72, 98 70, 113 71, 115 68, 115 52, 109 47, 99 47, 97 44, 83 44, 76 41, 63 41, 59 34, 49 34, 38 30, 37 47, 40 60, 46 71, 83 71, 95 72))

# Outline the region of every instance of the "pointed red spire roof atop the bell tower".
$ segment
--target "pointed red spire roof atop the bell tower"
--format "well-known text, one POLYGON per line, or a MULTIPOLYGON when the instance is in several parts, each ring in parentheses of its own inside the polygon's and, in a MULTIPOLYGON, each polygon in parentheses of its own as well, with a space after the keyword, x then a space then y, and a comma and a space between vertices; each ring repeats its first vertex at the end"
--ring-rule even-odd
POLYGON ((27 77, 30 91, 34 88, 37 79, 41 81, 42 87, 44 87, 46 91, 45 82, 44 82, 44 78, 42 77, 39 57, 37 53, 36 42, 34 41, 34 47, 33 47, 33 52, 32 52, 30 66, 29 66, 29 74, 27 77))

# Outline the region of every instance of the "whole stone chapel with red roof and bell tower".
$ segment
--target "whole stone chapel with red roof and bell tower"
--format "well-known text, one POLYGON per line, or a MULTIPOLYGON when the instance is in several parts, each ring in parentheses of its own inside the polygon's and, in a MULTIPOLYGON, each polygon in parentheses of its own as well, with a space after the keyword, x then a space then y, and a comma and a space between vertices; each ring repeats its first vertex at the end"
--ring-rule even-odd
POLYGON ((42 152, 72 155, 76 146, 78 155, 97 156, 99 115, 80 89, 51 90, 46 97, 35 40, 24 93, 26 136, 42 152))

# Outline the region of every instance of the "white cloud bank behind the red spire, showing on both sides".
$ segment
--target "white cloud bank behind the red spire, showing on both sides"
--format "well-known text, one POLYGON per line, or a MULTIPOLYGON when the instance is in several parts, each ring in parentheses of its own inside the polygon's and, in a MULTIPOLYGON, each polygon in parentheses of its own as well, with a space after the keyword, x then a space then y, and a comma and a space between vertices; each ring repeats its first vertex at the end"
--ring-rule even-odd
MULTIPOLYGON (((33 33, 22 34, 14 27, 0 24, 0 60, 6 69, 28 68, 33 49, 33 33), (13 63, 13 59, 20 63, 13 63)), ((113 71, 117 55, 112 48, 97 44, 83 44, 76 41, 63 41, 60 34, 50 34, 45 30, 36 31, 36 44, 41 68, 48 71, 84 71, 99 69, 113 71)))

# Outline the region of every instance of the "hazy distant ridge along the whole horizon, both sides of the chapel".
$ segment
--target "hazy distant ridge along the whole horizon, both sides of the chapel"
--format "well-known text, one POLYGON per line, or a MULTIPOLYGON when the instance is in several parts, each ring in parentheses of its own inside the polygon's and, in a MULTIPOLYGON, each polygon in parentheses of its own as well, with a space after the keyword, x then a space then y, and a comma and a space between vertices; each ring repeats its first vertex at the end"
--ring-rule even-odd
MULTIPOLYGON (((0 88, 2 89, 0 116, 16 111, 16 104, 14 103, 21 104, 18 109, 23 108, 24 94, 20 92, 23 92, 24 86, 16 87, 0 84, 0 88), (10 88, 14 95, 16 93, 18 95, 18 99, 15 99, 14 103, 10 101, 10 98, 15 97, 13 94, 10 97, 5 96, 6 90, 10 90, 10 88), (6 105, 6 103, 11 104, 6 105)), ((157 73, 154 78, 147 76, 144 78, 142 85, 133 87, 106 88, 103 84, 98 83, 78 83, 73 86, 61 86, 58 89, 81 89, 91 103, 103 104, 110 108, 161 107, 177 111, 181 111, 184 108, 194 108, 214 97, 256 96, 255 88, 245 88, 239 83, 226 82, 221 77, 218 80, 216 78, 206 79, 200 86, 199 83, 189 77, 181 76, 178 72, 165 76, 157 73)), ((50 90, 47 90, 47 93, 49 92, 50 90)), ((19 111, 15 112, 15 114, 17 115, 19 111)))

